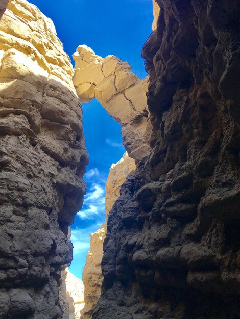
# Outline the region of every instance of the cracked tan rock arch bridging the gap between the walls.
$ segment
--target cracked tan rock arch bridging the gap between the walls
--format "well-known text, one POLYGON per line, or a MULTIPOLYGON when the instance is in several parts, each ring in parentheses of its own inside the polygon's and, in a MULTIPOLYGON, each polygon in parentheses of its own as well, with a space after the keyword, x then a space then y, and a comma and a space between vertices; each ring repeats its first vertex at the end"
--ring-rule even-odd
POLYGON ((129 156, 139 160, 149 149, 148 77, 140 80, 127 62, 115 56, 97 56, 86 45, 80 45, 73 58, 76 62, 74 85, 80 101, 97 98, 121 124, 123 144, 129 156))

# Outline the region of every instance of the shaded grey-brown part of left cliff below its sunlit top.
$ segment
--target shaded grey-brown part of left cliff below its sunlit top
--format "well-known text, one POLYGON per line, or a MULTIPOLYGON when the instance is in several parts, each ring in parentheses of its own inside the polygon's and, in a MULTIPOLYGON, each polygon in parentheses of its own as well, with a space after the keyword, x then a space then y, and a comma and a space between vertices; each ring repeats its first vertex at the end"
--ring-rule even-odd
POLYGON ((0 77, 1 318, 60 318, 68 226, 86 189, 82 109, 56 77, 3 69, 0 77))

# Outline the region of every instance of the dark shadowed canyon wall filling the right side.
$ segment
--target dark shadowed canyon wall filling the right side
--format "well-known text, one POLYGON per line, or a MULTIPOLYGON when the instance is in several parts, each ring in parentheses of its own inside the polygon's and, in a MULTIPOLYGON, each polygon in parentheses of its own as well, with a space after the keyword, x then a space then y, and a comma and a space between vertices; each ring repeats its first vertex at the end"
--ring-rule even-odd
POLYGON ((152 149, 110 212, 93 319, 236 319, 239 1, 157 2, 152 149))

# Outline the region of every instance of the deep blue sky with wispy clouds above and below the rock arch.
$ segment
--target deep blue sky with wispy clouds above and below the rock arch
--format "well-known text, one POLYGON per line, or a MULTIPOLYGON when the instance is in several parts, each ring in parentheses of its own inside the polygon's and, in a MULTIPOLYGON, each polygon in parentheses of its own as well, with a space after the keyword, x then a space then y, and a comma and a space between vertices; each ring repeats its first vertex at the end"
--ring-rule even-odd
MULTIPOLYGON (((96 54, 115 55, 128 61, 132 71, 146 77, 141 48, 151 33, 152 0, 30 0, 56 26, 64 50, 70 56, 80 44, 96 54)), ((73 61, 73 60, 72 60, 73 61)), ((83 104, 83 129, 90 163, 84 177, 87 195, 83 209, 71 226, 74 260, 70 271, 82 278, 90 233, 105 220, 105 183, 112 163, 124 154, 121 127, 97 100, 83 104)))

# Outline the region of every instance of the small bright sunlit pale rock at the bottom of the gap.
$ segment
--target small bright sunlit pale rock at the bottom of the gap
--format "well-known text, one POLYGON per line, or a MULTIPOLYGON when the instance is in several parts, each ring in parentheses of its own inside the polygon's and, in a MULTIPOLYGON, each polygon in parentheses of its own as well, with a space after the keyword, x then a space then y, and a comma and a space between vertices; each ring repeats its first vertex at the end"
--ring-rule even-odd
POLYGON ((66 306, 66 318, 79 319, 84 307, 84 285, 66 268, 61 276, 62 303, 66 306))

